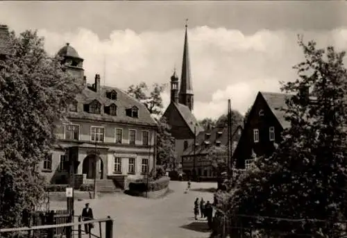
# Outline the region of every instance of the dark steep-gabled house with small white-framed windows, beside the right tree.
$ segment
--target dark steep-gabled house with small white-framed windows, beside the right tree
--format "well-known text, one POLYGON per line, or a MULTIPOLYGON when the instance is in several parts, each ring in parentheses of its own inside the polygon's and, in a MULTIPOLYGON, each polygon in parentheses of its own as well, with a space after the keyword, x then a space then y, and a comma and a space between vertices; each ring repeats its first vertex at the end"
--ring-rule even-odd
POLYGON ((252 155, 271 155, 274 143, 281 140, 282 130, 290 126, 285 120, 286 99, 290 94, 258 92, 248 114, 239 144, 235 149, 236 169, 247 169, 252 155))

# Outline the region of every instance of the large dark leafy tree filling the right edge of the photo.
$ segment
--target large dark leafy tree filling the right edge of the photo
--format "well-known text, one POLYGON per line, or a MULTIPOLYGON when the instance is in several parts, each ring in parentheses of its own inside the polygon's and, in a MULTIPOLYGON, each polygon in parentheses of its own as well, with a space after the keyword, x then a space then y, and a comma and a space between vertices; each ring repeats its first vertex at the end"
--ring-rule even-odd
POLYGON ((239 180, 230 213, 249 215, 234 217, 234 222, 267 235, 330 237, 333 230, 340 237, 337 223, 346 219, 347 208, 345 53, 336 53, 332 46, 316 49, 315 42, 304 44, 301 38, 299 45, 305 61, 294 67, 298 79, 282 87, 294 94, 285 109, 291 127, 282 133, 273 155, 257 158, 255 167, 239 180), (314 101, 303 93, 308 87, 314 101))

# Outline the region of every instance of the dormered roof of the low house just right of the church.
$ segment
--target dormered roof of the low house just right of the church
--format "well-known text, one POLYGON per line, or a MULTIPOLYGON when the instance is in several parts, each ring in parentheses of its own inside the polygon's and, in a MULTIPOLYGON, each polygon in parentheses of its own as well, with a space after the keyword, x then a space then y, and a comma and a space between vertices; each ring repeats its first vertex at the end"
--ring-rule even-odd
MULTIPOLYGON (((237 130, 242 130, 242 126, 237 126, 235 130, 232 131, 232 141, 238 142, 241 134, 237 133, 237 130)), ((205 130, 201 133, 198 133, 196 136, 196 148, 195 154, 206 154, 212 146, 215 146, 217 142, 220 142, 221 145, 228 145, 228 128, 212 128, 211 130, 205 130), (206 139, 205 135, 209 134, 209 138, 206 139), (217 138, 217 134, 221 134, 220 137, 217 138)), ((235 150, 236 146, 232 147, 235 150)), ((186 155, 194 155, 194 142, 189 144, 188 148, 183 151, 183 156, 186 155)))

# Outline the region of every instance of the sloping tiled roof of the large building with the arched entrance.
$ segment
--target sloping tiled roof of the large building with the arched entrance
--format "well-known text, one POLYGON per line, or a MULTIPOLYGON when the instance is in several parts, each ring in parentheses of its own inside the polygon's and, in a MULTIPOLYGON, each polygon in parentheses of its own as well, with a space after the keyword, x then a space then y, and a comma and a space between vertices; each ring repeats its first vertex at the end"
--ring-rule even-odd
POLYGON ((110 121, 110 122, 119 122, 126 124, 139 124, 147 126, 156 126, 155 120, 151 117, 149 110, 146 106, 129 96, 123 90, 120 90, 117 87, 108 87, 101 86, 100 92, 95 92, 92 90, 91 85, 87 85, 81 94, 76 96, 76 100, 82 104, 89 104, 94 100, 99 101, 102 105, 108 106, 112 103, 117 105, 117 116, 111 116, 108 114, 92 114, 89 112, 78 111, 78 112, 69 112, 70 118, 75 119, 92 119, 100 121, 110 121), (106 97, 106 92, 115 90, 117 92, 117 100, 111 100, 106 97), (138 118, 126 116, 126 109, 137 107, 139 109, 138 118))

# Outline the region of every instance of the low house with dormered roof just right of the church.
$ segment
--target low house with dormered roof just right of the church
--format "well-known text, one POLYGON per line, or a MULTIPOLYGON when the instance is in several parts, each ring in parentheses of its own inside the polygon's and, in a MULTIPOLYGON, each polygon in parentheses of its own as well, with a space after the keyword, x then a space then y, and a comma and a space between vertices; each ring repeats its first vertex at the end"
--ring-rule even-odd
MULTIPOLYGON (((230 139, 232 140, 232 151, 235 150, 239 138, 242 135, 242 126, 237 126, 232 132, 230 139)), ((214 173, 208 153, 212 146, 228 146, 228 128, 212 128, 205 130, 196 136, 196 144, 189 144, 188 148, 183 152, 183 171, 188 177, 193 176, 194 169, 196 175, 201 180, 217 179, 217 173, 214 173)))

